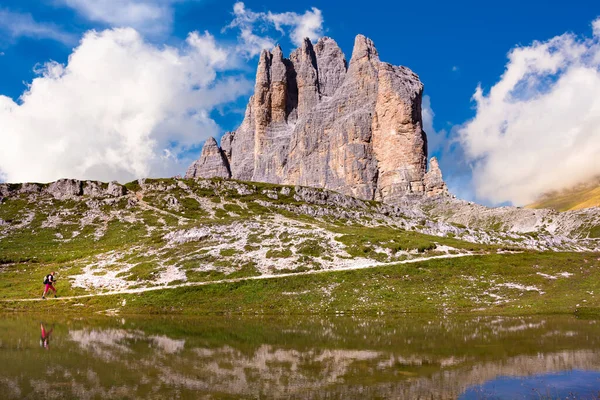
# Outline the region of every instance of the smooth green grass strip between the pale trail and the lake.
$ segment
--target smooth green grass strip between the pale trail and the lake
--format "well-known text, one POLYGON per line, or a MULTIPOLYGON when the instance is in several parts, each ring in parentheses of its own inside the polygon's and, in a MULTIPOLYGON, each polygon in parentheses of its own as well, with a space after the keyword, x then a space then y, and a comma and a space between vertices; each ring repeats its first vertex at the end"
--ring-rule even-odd
MULTIPOLYGON (((600 310, 600 261, 594 253, 481 255, 46 303, 3 303, 5 311, 131 314, 475 313, 494 315, 600 310), (538 272, 572 276, 547 279, 538 272), (535 286, 517 290, 502 284, 535 286), (284 293, 286 293, 284 295, 284 293), (508 302, 497 303, 501 296, 508 302), (593 293, 593 294, 590 294, 593 293), (127 304, 121 307, 123 299, 127 304), (74 303, 84 306, 74 307, 74 303)), ((231 275, 229 276, 231 277, 231 275)))

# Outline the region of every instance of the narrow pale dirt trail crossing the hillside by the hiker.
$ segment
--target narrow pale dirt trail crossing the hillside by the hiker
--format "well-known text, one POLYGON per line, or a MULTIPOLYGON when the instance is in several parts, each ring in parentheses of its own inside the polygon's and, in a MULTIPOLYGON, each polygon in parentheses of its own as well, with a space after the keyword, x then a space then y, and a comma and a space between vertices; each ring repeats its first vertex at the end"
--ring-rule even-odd
MULTIPOLYGON (((290 272, 290 273, 276 274, 276 275, 249 276, 249 277, 245 277, 245 278, 235 278, 235 279, 221 279, 218 281, 188 282, 188 283, 181 283, 178 285, 171 285, 171 286, 152 286, 152 287, 144 287, 144 288, 136 288, 136 289, 124 289, 124 290, 119 290, 119 291, 84 294, 84 295, 79 295, 79 296, 68 296, 68 297, 58 297, 58 298, 49 297, 47 300, 76 300, 76 299, 85 299, 85 298, 96 297, 96 296, 114 296, 114 295, 119 295, 119 294, 144 293, 144 292, 150 292, 150 291, 154 291, 154 290, 169 290, 169 289, 177 289, 177 288, 181 288, 181 287, 190 287, 190 286, 206 286, 206 285, 217 285, 217 284, 221 284, 221 283, 235 283, 235 282, 250 281, 250 280, 276 279, 276 278, 286 278, 286 277, 290 277, 290 276, 302 276, 302 275, 316 275, 316 274, 325 274, 328 272, 350 271, 350 270, 367 269, 367 268, 373 268, 373 267, 384 267, 384 266, 389 266, 389 265, 412 264, 412 263, 418 263, 418 262, 424 262, 424 261, 430 261, 430 260, 439 260, 439 259, 444 259, 444 258, 472 257, 475 255, 478 255, 478 254, 473 254, 473 253, 443 254, 443 255, 439 255, 439 256, 413 258, 410 260, 396 261, 396 262, 390 262, 390 263, 373 263, 373 264, 367 264, 367 265, 358 265, 358 266, 342 267, 342 268, 335 268, 335 269, 325 269, 325 270, 321 269, 321 270, 311 270, 311 271, 295 272, 295 273, 290 272)), ((14 300, 2 300, 2 301, 3 302, 22 302, 22 301, 46 301, 46 300, 43 300, 41 298, 35 298, 35 299, 14 299, 14 300)))

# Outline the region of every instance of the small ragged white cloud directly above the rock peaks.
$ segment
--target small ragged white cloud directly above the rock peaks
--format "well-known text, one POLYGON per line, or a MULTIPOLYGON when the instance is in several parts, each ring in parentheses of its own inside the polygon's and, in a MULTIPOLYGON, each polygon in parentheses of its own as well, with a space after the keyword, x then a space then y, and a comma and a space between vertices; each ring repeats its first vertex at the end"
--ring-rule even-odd
POLYGON ((304 14, 271 11, 257 13, 246 8, 240 1, 234 4, 233 15, 235 18, 224 29, 240 30, 239 38, 242 43, 238 46, 238 51, 248 57, 254 57, 263 49, 270 49, 275 45, 275 40, 268 34, 272 29, 282 36, 289 35, 296 46, 300 46, 305 37, 315 41, 323 35, 323 15, 315 7, 304 14))

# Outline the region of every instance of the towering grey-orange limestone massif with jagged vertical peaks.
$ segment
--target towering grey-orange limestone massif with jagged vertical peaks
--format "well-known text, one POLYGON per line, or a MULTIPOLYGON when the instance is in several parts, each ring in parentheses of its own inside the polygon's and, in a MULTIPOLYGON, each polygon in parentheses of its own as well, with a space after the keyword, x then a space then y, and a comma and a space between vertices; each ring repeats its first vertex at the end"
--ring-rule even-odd
POLYGON ((241 126, 223 136, 220 149, 208 140, 186 176, 229 174, 387 203, 446 194, 445 185, 425 183, 422 93, 417 75, 381 62, 362 35, 349 64, 327 37, 314 46, 305 39, 289 59, 280 47, 263 51, 241 126))

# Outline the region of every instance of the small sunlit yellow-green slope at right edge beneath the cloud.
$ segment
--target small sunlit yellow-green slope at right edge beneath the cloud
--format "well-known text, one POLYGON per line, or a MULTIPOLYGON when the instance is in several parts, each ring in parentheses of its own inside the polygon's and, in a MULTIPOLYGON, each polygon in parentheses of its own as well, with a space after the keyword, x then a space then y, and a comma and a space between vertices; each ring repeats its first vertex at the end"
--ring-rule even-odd
POLYGON ((600 182, 594 181, 573 189, 544 195, 527 208, 552 208, 557 211, 581 210, 589 207, 600 207, 600 182))

